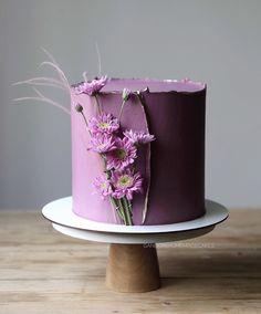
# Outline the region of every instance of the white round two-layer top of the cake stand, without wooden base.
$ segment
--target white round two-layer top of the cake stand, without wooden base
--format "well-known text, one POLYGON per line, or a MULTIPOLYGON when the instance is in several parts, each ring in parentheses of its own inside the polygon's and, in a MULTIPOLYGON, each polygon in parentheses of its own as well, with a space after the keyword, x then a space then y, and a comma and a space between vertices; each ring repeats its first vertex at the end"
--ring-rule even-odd
POLYGON ((158 226, 123 226, 91 221, 72 211, 72 198, 52 201, 42 209, 55 230, 73 238, 107 243, 159 243, 196 238, 210 232, 228 218, 220 203, 206 200, 205 216, 179 223, 158 226))

